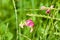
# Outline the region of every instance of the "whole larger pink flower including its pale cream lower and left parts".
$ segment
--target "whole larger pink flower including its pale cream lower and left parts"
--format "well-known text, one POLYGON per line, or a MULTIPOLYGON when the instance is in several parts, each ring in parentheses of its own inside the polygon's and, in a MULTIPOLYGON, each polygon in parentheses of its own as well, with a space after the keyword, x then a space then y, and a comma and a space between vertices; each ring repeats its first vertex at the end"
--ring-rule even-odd
POLYGON ((30 32, 32 32, 34 27, 34 22, 31 19, 28 19, 25 22, 21 22, 19 26, 21 28, 23 28, 24 26, 30 27, 30 32))

